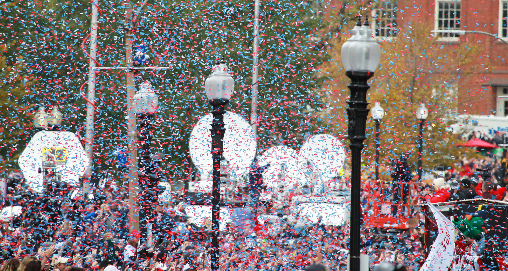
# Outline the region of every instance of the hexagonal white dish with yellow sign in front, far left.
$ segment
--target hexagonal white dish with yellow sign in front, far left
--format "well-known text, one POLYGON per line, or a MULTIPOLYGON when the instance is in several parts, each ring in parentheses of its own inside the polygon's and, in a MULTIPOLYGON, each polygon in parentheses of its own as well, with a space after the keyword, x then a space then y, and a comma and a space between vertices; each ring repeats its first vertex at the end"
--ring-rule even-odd
POLYGON ((37 132, 19 156, 18 163, 28 185, 37 192, 44 189, 44 176, 39 173, 43 162, 43 149, 47 152, 57 151, 58 157, 55 159, 60 159, 56 164, 56 173, 61 175, 62 182, 78 186, 79 177, 83 176, 88 165, 88 158, 76 134, 61 131, 37 132))

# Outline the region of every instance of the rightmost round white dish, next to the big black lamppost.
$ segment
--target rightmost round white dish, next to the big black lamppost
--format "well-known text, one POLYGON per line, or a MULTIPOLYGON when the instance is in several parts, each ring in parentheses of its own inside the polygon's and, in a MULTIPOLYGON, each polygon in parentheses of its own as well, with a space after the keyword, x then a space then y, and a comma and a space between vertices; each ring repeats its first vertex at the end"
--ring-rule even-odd
POLYGON ((316 134, 308 138, 299 154, 305 162, 310 161, 311 167, 322 181, 339 176, 346 157, 340 140, 330 134, 316 134))

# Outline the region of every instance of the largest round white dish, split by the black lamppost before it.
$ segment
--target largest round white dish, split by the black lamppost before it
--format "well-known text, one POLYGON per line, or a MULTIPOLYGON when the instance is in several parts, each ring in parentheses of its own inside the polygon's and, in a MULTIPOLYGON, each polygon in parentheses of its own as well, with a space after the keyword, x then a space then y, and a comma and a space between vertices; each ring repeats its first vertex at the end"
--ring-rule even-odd
MULTIPOLYGON (((212 170, 211 154, 211 113, 203 116, 190 133, 190 158, 198 167, 201 176, 208 176, 212 170)), ((233 177, 248 172, 248 167, 256 155, 256 137, 248 122, 232 112, 224 114, 226 132, 224 134, 224 158, 229 161, 229 170, 233 177)))

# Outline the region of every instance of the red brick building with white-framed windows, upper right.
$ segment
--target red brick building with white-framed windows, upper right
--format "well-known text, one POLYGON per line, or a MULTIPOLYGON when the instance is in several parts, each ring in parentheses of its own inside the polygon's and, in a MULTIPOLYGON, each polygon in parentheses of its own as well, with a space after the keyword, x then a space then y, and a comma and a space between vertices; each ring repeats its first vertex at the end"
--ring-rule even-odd
MULTIPOLYGON (((342 1, 331 0, 331 12, 342 1), (334 3, 335 2, 335 3, 334 3), (335 4, 335 6, 334 6, 335 4)), ((481 33, 497 35, 508 42, 508 0, 377 0, 367 9, 376 18, 374 33, 380 39, 393 39, 399 35, 399 27, 408 24, 433 25, 434 29, 465 30, 465 35, 450 33, 440 35, 441 50, 453 54, 457 46, 481 43, 481 57, 475 58, 475 71, 457 80, 458 112, 476 115, 478 119, 491 116, 495 120, 491 129, 508 126, 508 44, 481 33), (483 116, 480 117, 479 115, 483 116), (493 115, 493 116, 492 116, 493 115)), ((368 2, 365 1, 365 4, 368 2)), ((325 12, 327 12, 325 11, 325 12)), ((431 69, 431 67, 429 67, 431 69)), ((434 72, 446 73, 438 70, 434 72)), ((454 73, 457 73, 454 71, 454 73)), ((458 72, 461 75, 461 72, 458 72)), ((471 116, 469 116, 471 119, 471 116)), ((481 121, 480 121, 481 122, 481 121)), ((481 123, 480 123, 481 125, 481 123)), ((492 125, 490 125, 492 126, 492 125)))

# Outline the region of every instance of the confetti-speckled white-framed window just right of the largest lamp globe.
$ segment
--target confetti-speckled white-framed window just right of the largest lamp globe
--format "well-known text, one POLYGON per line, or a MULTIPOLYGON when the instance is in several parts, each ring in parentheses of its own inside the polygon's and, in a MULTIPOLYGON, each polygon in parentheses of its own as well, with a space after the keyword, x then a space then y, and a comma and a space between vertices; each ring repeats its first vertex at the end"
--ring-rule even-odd
POLYGON ((381 0, 377 3, 377 8, 372 10, 372 17, 375 21, 372 25, 374 35, 379 38, 397 37, 399 29, 397 28, 397 1, 381 0))

